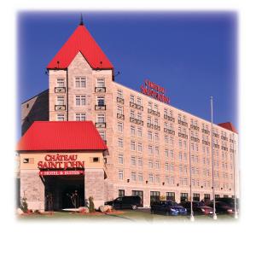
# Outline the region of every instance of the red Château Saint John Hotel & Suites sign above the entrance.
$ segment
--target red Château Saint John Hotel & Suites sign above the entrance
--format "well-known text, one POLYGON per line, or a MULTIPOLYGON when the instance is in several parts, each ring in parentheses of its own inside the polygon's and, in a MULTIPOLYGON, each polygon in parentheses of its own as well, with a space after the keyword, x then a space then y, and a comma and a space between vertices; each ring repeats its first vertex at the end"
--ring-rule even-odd
POLYGON ((84 173, 84 161, 78 160, 77 154, 46 154, 43 161, 38 161, 38 169, 40 176, 79 175, 84 173))

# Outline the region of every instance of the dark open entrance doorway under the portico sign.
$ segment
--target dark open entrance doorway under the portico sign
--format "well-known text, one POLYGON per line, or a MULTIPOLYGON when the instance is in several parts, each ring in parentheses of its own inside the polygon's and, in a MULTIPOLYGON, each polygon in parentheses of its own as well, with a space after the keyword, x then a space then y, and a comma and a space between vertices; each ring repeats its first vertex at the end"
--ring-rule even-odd
POLYGON ((84 207, 84 175, 44 176, 45 211, 84 207))

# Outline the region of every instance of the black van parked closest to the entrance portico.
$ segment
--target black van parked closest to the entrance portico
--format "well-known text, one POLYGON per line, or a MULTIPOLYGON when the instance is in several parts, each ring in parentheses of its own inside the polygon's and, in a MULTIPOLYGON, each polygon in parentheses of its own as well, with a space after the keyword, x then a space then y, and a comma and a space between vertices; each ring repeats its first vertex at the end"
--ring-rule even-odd
POLYGON ((125 195, 122 197, 118 197, 113 201, 106 201, 105 205, 113 206, 115 209, 132 209, 136 210, 137 207, 141 207, 143 205, 142 199, 138 195, 125 195))

